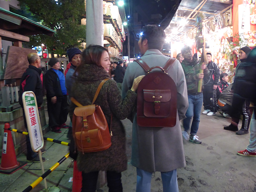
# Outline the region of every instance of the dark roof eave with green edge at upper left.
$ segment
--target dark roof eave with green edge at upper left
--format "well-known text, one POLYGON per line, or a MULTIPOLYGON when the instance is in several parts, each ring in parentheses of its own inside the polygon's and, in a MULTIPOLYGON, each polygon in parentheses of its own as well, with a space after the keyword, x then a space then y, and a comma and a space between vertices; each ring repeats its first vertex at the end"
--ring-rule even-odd
MULTIPOLYGON (((30 20, 21 15, 15 14, 13 12, 7 11, 0 7, 0 29, 5 31, 10 31, 15 34, 20 34, 23 36, 46 34, 48 36, 53 36, 56 33, 54 30, 45 27, 33 20, 30 20)), ((4 40, 11 40, 5 39, 4 40)))

